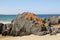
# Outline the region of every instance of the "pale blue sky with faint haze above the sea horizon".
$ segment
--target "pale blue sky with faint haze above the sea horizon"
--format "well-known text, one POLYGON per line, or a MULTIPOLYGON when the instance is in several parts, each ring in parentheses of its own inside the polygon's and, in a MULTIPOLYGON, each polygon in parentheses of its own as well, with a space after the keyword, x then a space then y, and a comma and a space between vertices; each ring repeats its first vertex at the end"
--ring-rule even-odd
POLYGON ((60 0, 0 0, 0 14, 60 14, 60 0))

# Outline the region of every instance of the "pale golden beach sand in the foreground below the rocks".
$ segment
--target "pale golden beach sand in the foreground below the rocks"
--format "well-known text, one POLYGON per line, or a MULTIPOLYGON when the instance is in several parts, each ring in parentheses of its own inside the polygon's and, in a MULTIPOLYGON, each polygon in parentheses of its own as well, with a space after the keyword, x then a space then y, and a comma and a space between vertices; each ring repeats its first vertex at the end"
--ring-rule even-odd
POLYGON ((28 35, 28 36, 17 36, 17 37, 13 37, 13 36, 1 36, 0 35, 0 40, 60 40, 60 34, 57 35, 52 35, 50 36, 45 35, 45 36, 37 36, 37 35, 28 35))

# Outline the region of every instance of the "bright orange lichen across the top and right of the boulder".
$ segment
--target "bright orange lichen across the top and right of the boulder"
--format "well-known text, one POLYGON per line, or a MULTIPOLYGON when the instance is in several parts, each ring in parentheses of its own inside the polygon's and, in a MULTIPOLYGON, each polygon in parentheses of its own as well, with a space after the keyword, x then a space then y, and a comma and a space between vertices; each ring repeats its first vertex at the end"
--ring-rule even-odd
POLYGON ((35 21, 34 24, 38 22, 41 27, 43 27, 44 25, 43 19, 38 18, 34 13, 24 12, 23 16, 25 17, 25 19, 29 19, 29 18, 33 19, 35 21))

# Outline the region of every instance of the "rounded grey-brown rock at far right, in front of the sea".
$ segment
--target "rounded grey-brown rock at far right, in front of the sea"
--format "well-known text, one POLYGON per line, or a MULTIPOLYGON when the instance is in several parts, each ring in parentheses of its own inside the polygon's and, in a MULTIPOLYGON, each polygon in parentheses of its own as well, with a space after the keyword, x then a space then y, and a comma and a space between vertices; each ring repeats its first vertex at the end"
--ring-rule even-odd
POLYGON ((45 22, 47 22, 47 23, 50 22, 52 25, 59 24, 60 18, 59 18, 59 16, 50 16, 50 17, 45 18, 45 22))

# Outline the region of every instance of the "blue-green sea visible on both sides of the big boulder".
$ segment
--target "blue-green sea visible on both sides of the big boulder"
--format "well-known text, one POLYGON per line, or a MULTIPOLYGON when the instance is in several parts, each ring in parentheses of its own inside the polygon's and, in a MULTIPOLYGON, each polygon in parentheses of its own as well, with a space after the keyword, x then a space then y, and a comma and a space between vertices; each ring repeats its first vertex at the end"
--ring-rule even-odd
MULTIPOLYGON (((60 14, 43 14, 43 15, 40 15, 40 14, 37 14, 36 16, 40 17, 40 18, 46 18, 48 16, 60 16, 60 14)), ((13 20, 14 18, 16 17, 16 15, 0 15, 0 21, 11 21, 13 20)))

